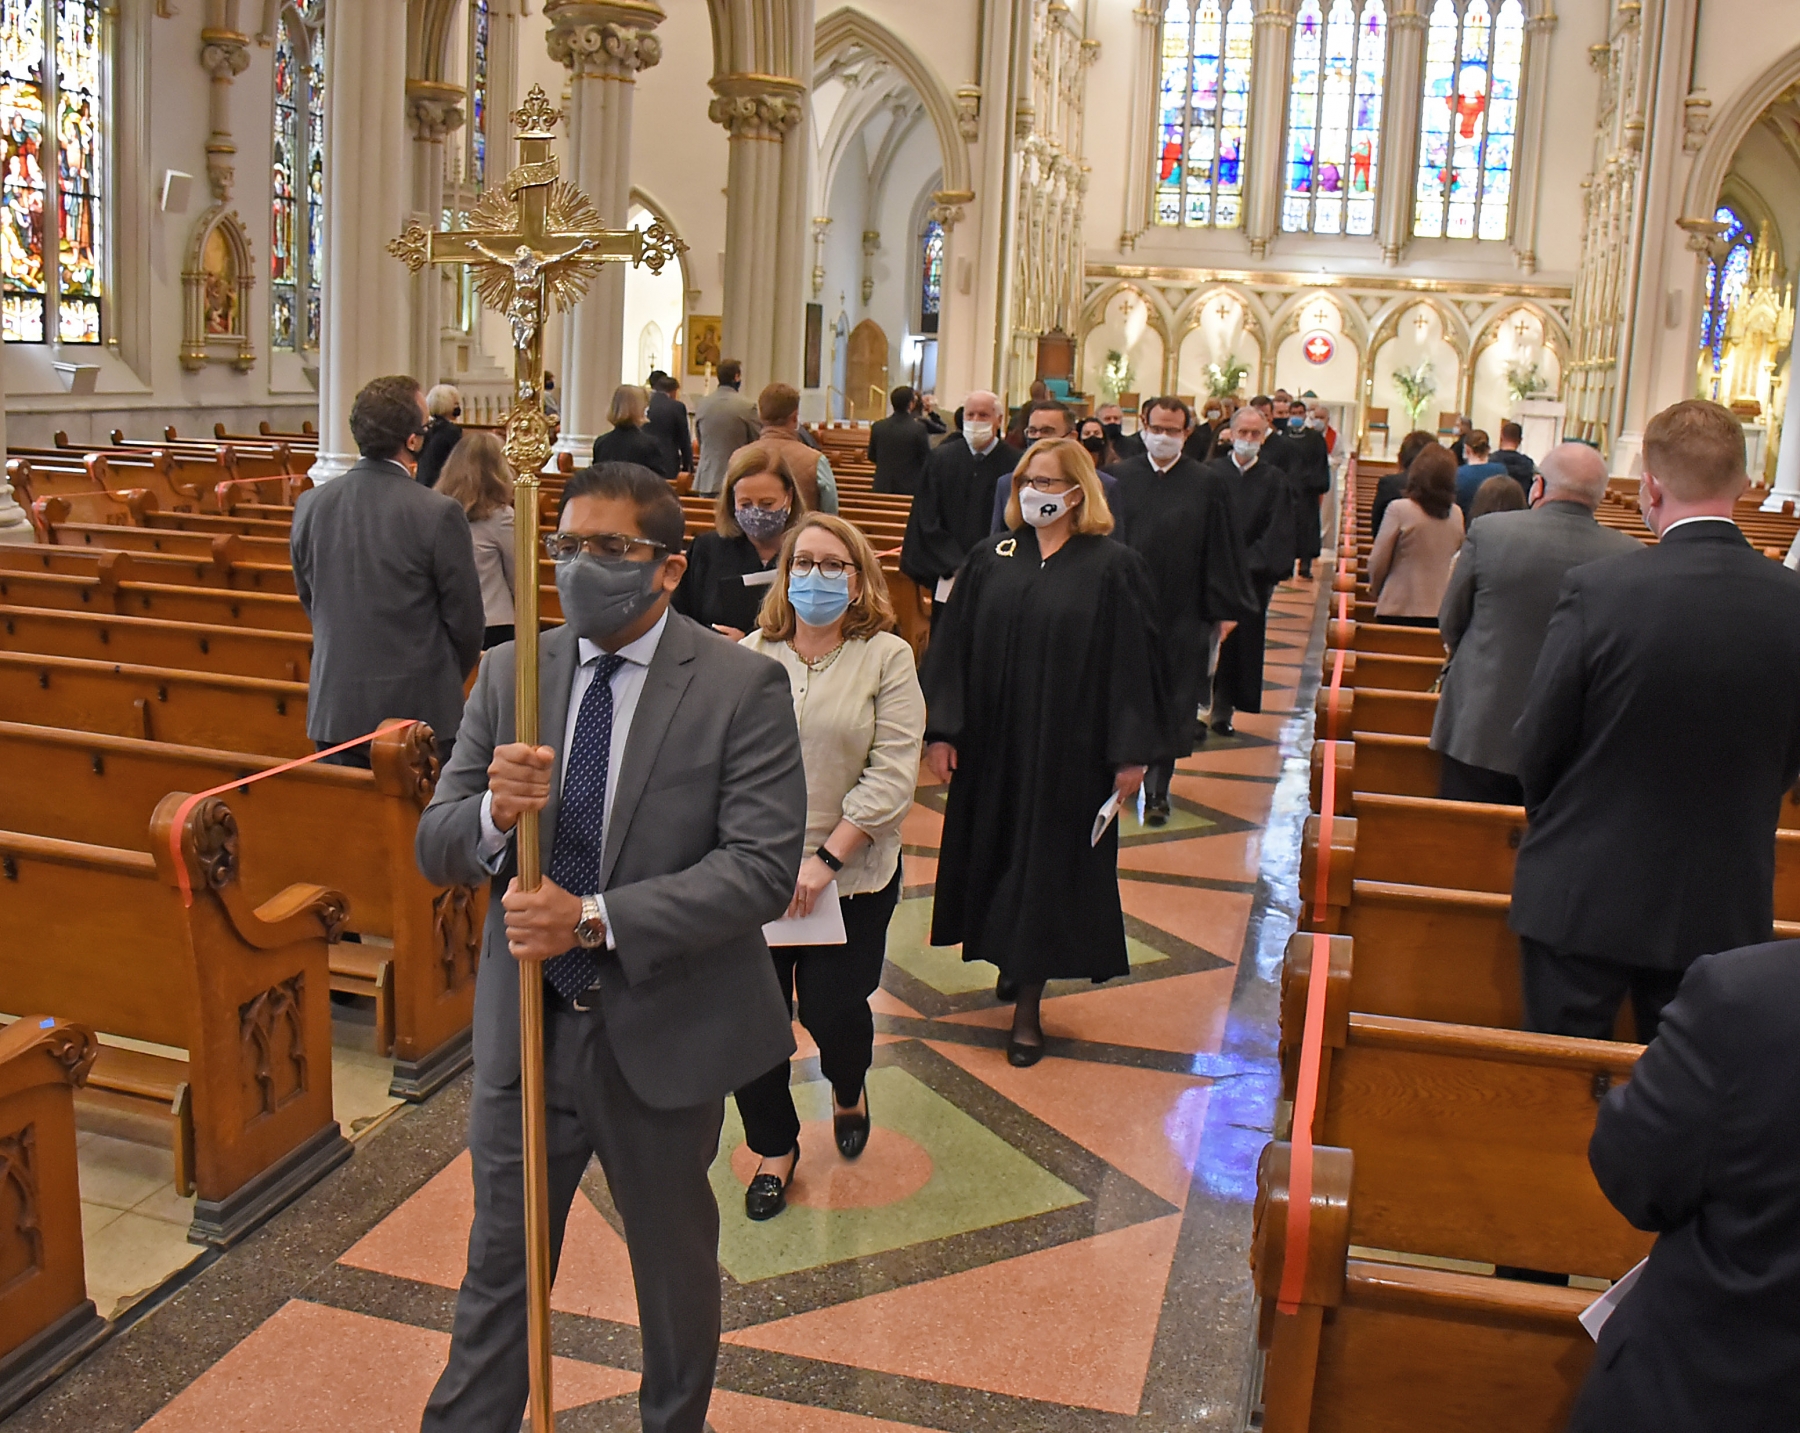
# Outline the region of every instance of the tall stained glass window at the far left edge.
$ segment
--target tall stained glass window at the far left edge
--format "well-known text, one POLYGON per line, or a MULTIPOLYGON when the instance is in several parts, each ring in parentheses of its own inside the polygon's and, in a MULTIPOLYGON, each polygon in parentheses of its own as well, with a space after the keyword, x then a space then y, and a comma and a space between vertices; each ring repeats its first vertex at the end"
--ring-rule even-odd
POLYGON ((99 0, 0 0, 0 333, 9 344, 103 337, 103 25, 99 0))

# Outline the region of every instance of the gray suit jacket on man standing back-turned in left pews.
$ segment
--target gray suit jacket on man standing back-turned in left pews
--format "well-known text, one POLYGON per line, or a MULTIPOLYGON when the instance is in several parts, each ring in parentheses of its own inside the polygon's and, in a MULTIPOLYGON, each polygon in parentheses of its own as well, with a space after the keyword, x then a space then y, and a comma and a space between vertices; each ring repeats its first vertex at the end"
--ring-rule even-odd
POLYGON ((461 504, 365 457, 301 493, 288 551, 313 621, 306 735, 347 742, 409 716, 455 738, 486 632, 461 504))

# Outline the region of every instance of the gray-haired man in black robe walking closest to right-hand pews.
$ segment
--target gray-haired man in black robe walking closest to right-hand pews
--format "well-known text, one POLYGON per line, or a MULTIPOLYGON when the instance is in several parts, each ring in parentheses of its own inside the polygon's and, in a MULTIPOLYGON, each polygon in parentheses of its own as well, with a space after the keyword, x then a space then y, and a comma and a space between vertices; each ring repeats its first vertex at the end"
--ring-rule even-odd
POLYGON ((1256 409, 1238 409, 1231 419, 1231 455, 1206 466, 1224 482, 1246 567, 1256 589, 1256 608, 1219 644, 1213 709, 1208 726, 1231 736, 1238 711, 1262 711, 1262 653, 1269 598, 1294 571, 1294 484, 1287 472, 1262 457, 1269 421, 1256 409))

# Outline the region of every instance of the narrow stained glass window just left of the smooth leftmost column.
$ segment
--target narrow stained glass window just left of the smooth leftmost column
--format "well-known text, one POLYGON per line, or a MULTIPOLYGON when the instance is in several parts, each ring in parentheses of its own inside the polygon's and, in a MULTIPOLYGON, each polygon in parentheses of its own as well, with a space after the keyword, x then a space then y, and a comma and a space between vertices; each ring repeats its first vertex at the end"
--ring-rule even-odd
MULTIPOLYGON (((4 0, 0 0, 4 4, 4 0)), ((268 346, 319 347, 326 238, 324 7, 288 7, 275 29, 275 133, 270 160, 268 346)))

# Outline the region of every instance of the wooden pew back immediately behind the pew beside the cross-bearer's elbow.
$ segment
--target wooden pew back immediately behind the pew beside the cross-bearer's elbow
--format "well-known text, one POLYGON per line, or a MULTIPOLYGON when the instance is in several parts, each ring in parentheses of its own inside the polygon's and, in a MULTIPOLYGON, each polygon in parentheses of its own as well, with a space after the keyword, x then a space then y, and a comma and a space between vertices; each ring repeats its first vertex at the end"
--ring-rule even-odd
POLYGON ((306 684, 0 652, 0 720, 308 756, 306 684))

